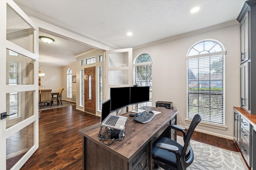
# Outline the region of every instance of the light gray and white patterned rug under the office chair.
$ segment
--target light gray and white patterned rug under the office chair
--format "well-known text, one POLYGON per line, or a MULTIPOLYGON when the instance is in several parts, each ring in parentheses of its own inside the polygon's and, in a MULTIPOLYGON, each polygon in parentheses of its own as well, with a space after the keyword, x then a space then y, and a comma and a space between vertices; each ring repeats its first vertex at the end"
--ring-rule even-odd
MULTIPOLYGON (((177 142, 184 145, 183 138, 177 142)), ((190 141, 194 151, 194 161, 187 170, 248 170, 240 152, 214 147, 197 141, 190 141)), ((157 170, 162 170, 158 168, 157 170)))

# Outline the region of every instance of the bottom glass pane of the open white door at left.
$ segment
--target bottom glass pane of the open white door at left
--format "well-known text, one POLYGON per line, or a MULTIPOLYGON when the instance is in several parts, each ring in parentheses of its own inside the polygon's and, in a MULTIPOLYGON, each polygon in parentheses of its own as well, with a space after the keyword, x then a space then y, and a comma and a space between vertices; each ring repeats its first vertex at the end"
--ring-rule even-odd
POLYGON ((34 146, 34 123, 6 139, 6 170, 10 170, 34 146))

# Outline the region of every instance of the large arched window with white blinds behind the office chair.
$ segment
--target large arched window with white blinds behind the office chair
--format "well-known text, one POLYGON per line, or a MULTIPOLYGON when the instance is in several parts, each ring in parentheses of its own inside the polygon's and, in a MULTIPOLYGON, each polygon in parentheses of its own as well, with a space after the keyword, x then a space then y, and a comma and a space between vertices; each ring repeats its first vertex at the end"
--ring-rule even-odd
POLYGON ((199 113, 202 121, 225 124, 224 51, 217 41, 201 41, 188 51, 187 117, 199 113))

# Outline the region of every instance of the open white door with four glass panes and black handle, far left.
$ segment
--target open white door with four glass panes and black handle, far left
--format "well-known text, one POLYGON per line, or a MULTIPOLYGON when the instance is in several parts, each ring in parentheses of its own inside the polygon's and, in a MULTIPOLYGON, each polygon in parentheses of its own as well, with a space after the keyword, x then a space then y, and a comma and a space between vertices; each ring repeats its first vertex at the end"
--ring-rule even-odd
POLYGON ((0 169, 20 169, 38 148, 38 27, 0 1, 0 169))

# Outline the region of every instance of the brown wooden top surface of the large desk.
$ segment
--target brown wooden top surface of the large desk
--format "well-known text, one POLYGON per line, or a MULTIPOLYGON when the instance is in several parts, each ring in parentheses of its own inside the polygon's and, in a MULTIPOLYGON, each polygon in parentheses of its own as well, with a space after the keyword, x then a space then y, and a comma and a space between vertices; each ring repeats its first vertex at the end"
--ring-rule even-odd
MULTIPOLYGON (((160 107, 145 107, 147 111, 161 111, 162 113, 156 115, 150 122, 142 124, 134 121, 128 114, 122 116, 128 117, 125 128, 125 137, 122 141, 114 141, 112 145, 104 145, 99 140, 98 134, 100 131, 100 122, 89 127, 79 129, 78 132, 84 137, 104 147, 110 152, 122 157, 126 161, 130 161, 137 152, 146 146, 149 141, 155 138, 160 129, 168 126, 170 120, 178 113, 177 110, 164 109, 160 107)), ((108 143, 108 141, 106 141, 108 143)))

